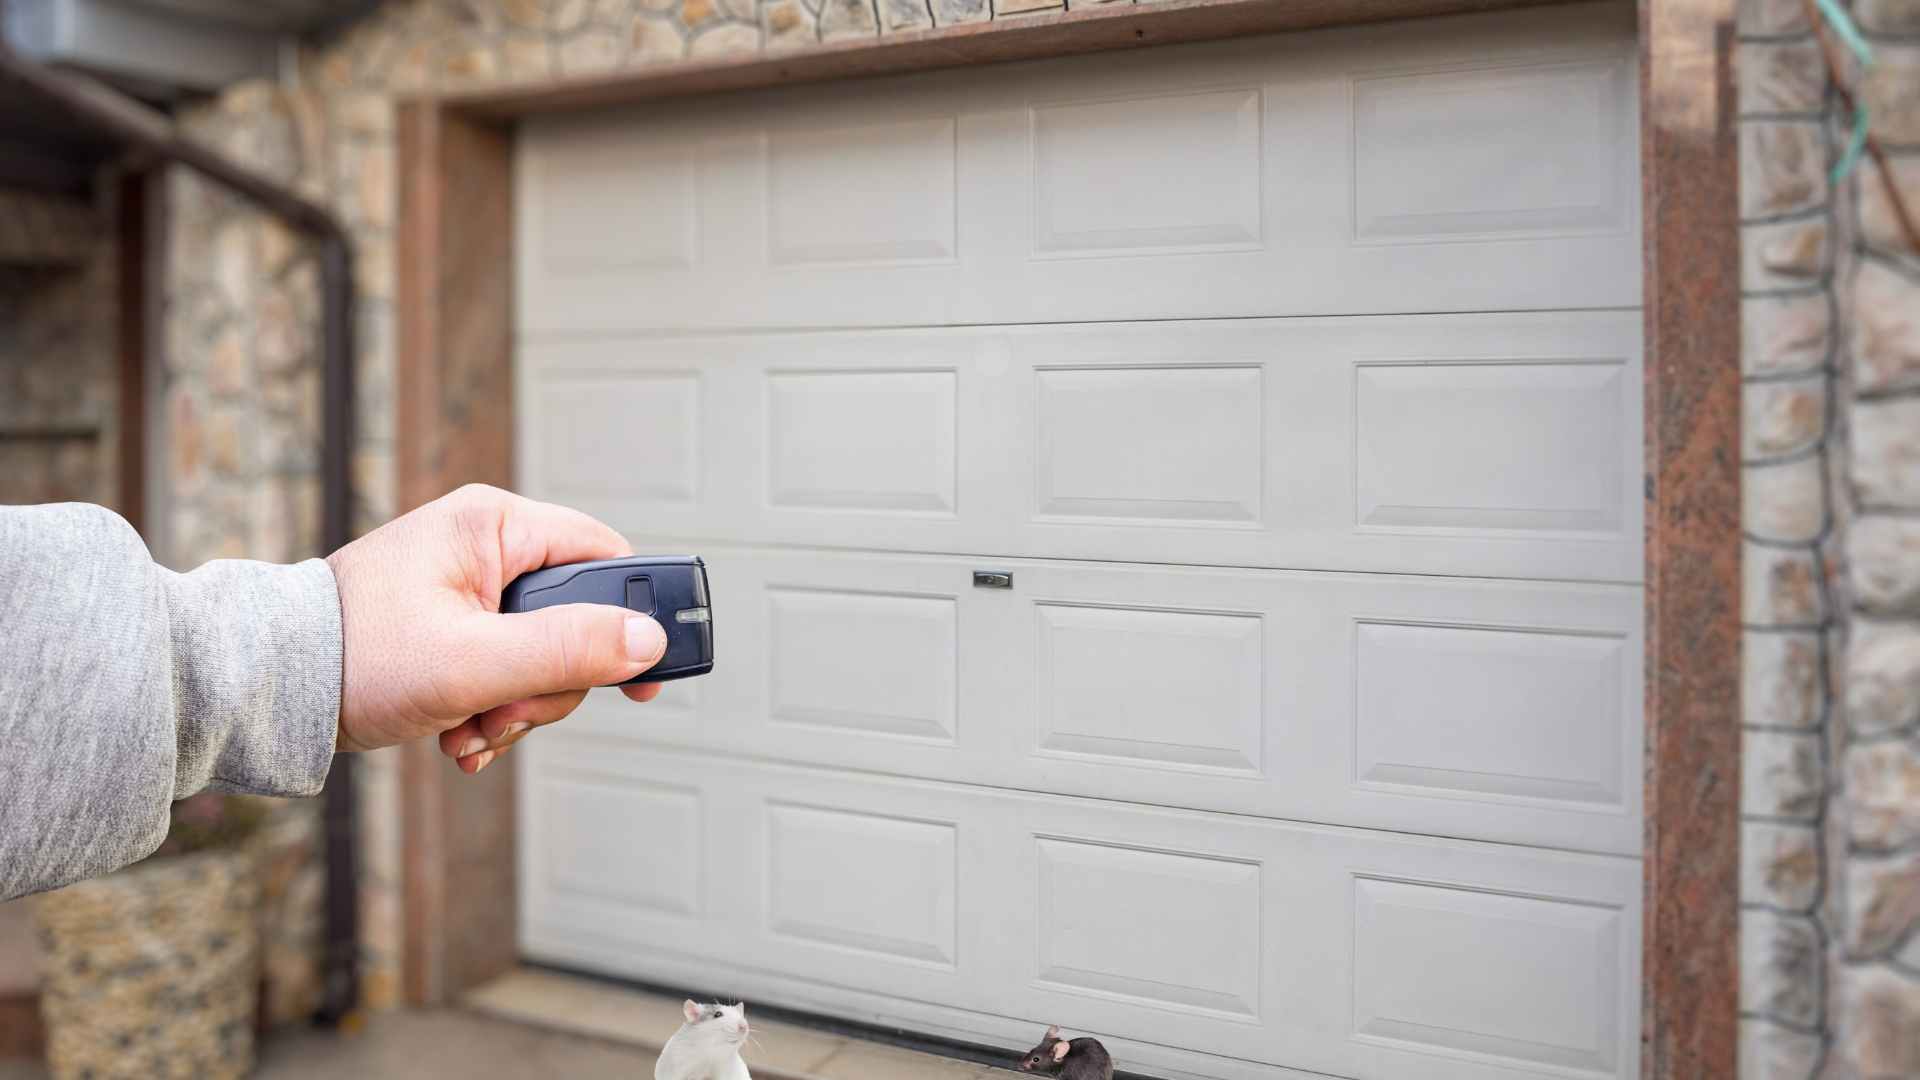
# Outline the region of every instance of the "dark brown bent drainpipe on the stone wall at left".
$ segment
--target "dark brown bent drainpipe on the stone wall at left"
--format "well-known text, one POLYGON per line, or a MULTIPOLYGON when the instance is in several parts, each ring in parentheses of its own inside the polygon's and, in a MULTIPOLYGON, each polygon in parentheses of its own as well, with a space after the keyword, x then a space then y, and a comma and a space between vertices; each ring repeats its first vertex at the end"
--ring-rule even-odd
MULTIPOLYGON (((244 196, 319 244, 321 263, 321 546, 353 538, 353 240, 324 206, 186 138, 173 121, 94 79, 54 71, 0 42, 0 83, 77 125, 184 165, 244 196)), ((359 1001, 359 901, 353 851, 353 757, 326 778, 326 970, 321 1019, 344 1020, 359 1001)))

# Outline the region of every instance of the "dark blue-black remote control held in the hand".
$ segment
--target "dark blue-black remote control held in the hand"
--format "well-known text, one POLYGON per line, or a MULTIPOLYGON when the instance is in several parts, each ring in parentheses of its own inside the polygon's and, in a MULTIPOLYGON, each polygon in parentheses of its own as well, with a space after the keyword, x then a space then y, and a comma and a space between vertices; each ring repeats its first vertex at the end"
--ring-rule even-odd
POLYGON ((501 611, 538 611, 555 603, 611 603, 653 615, 666 630, 666 655, 628 682, 666 682, 714 669, 714 617, 707 600, 707 563, 699 555, 545 567, 513 578, 499 594, 501 611))

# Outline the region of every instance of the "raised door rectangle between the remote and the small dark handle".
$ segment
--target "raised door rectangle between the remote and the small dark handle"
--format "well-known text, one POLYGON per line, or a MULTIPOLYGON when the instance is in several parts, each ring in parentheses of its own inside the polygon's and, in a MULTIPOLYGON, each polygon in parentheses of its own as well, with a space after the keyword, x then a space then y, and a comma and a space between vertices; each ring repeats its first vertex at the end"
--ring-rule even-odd
POLYGON ((950 596, 768 590, 774 723, 952 742, 950 596))

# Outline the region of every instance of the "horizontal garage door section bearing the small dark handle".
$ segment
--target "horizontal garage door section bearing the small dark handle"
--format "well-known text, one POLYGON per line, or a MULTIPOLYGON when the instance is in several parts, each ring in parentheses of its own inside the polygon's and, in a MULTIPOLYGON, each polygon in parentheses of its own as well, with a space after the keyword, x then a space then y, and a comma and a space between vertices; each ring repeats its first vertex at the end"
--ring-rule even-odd
POLYGON ((732 615, 699 719, 595 696, 574 723, 937 780, 1640 849, 1630 586, 705 555, 732 615), (973 588, 975 569, 1014 584, 973 588))

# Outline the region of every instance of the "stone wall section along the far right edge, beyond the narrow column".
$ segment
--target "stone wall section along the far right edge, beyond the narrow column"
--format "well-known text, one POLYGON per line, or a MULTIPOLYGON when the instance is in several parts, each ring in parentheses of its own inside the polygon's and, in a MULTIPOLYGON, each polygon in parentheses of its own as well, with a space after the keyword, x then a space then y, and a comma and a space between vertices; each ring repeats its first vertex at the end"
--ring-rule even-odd
MULTIPOLYGON (((1920 213, 1920 2, 1859 0, 1874 67, 1855 77, 1908 213, 1920 213)), ((1836 133, 1851 117, 1836 117, 1836 133)), ((1920 1076, 1920 250, 1885 177, 1845 183, 1841 286, 1851 521, 1837 698, 1834 1065, 1920 1076)))

